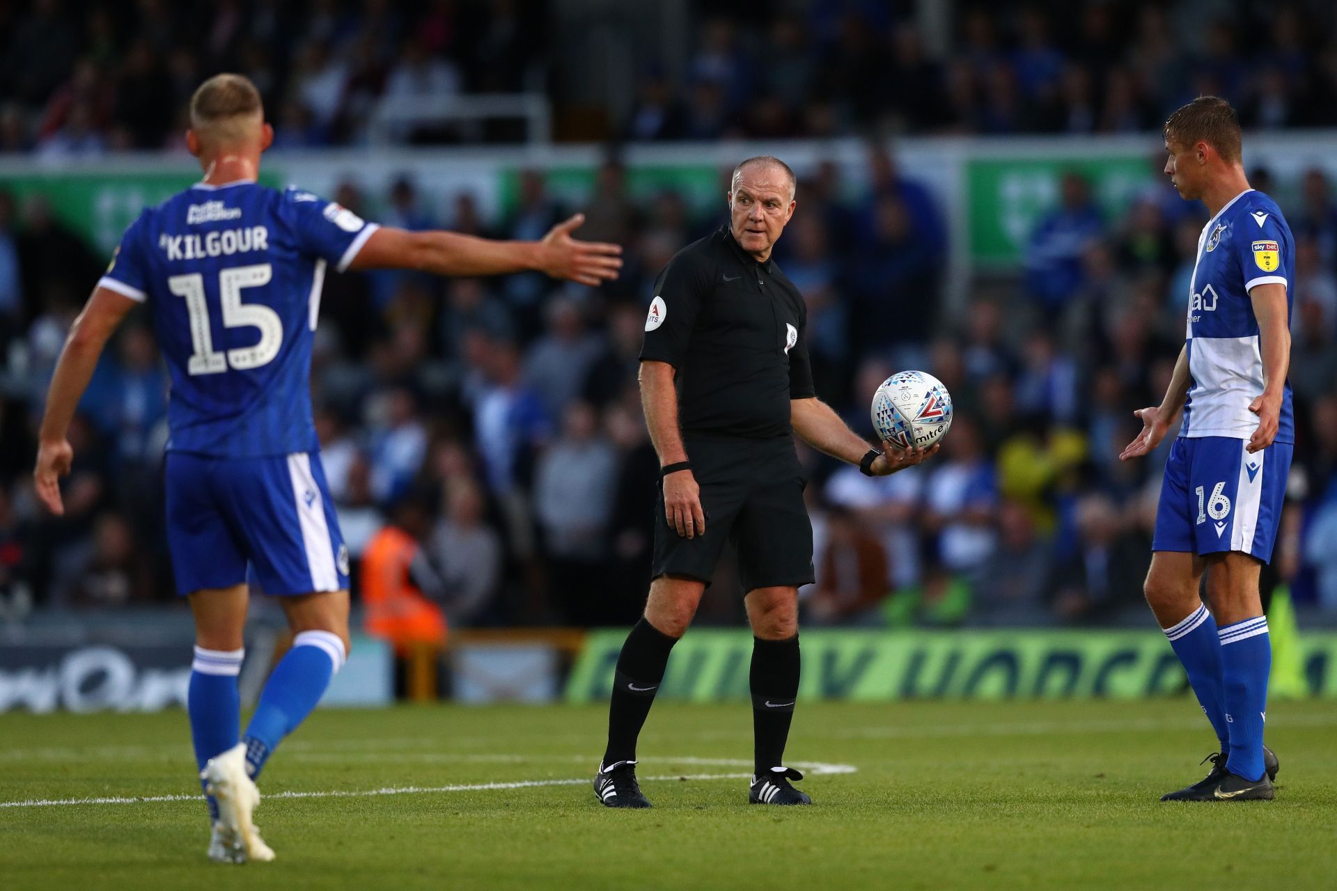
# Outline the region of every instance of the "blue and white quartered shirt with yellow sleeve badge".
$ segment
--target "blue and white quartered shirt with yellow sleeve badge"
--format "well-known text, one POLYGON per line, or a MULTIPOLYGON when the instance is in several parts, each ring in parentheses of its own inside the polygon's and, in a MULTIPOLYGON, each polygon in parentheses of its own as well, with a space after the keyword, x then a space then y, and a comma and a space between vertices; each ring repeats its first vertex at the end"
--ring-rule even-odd
MULTIPOLYGON (((1186 338, 1191 381, 1179 435, 1247 439, 1258 429, 1258 415, 1249 403, 1262 395, 1263 369, 1249 290, 1284 285, 1289 329, 1294 281, 1296 243, 1277 202, 1250 188, 1207 220, 1190 285, 1186 338)), ((1296 441, 1289 382, 1275 441, 1296 441)))

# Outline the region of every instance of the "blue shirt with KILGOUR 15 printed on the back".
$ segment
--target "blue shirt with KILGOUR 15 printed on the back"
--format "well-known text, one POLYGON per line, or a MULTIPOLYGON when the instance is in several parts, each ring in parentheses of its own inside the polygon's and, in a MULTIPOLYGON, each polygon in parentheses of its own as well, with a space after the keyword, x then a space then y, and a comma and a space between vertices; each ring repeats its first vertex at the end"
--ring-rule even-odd
POLYGON ((99 286, 146 301, 171 373, 168 450, 314 452, 312 337, 329 264, 377 226, 295 188, 198 183, 146 208, 99 286))

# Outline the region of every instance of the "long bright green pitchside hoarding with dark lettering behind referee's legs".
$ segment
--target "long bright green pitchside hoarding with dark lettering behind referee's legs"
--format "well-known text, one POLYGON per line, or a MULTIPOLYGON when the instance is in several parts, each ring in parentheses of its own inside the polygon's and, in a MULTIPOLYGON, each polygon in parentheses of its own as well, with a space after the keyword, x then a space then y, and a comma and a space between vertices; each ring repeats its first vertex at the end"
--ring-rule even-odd
MULTIPOLYGON (((604 700, 624 631, 594 632, 567 680, 570 703, 604 700)), ((1337 696, 1337 635, 1305 635, 1312 693, 1337 696)), ((673 651, 659 696, 746 699, 751 635, 693 631, 673 651)), ((805 631, 804 699, 1140 699, 1187 680, 1163 635, 1111 631, 805 631)))

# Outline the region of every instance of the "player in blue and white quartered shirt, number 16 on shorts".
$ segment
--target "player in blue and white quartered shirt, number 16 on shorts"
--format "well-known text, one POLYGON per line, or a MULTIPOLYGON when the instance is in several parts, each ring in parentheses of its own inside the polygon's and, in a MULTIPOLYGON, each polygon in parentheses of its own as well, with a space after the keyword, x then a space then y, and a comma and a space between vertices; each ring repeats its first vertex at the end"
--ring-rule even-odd
POLYGON ((1239 119, 1201 96, 1165 127, 1166 175, 1211 219, 1198 238, 1186 342, 1159 406, 1119 456, 1166 461, 1146 594, 1183 663, 1221 751, 1207 776, 1163 801, 1270 800, 1277 756, 1262 744, 1271 648, 1258 573, 1271 558, 1296 441, 1290 365, 1296 250, 1277 203, 1249 187, 1239 119), (1207 606, 1198 582, 1207 577, 1207 606))

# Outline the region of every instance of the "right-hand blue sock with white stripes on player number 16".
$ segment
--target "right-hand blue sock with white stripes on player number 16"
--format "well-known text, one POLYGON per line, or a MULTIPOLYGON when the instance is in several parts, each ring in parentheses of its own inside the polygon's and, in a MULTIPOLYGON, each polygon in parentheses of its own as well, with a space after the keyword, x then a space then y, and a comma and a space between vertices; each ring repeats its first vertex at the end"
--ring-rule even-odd
POLYGON ((1230 759, 1226 769, 1246 780, 1263 773, 1262 729, 1267 717, 1267 675, 1271 640, 1267 617, 1258 616, 1221 629, 1221 669, 1225 680, 1230 759))

